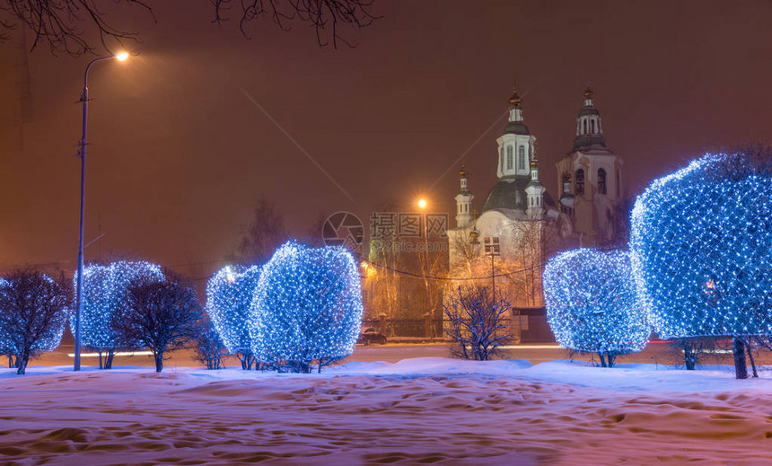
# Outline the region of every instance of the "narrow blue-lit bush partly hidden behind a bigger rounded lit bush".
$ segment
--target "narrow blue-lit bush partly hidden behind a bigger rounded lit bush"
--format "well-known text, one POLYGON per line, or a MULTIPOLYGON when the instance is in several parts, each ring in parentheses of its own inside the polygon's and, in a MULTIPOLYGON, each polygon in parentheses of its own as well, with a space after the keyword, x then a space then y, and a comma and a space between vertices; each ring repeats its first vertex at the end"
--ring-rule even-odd
POLYGON ((227 266, 206 285, 206 313, 223 339, 228 352, 249 370, 254 361, 250 338, 250 307, 260 279, 260 267, 227 266))

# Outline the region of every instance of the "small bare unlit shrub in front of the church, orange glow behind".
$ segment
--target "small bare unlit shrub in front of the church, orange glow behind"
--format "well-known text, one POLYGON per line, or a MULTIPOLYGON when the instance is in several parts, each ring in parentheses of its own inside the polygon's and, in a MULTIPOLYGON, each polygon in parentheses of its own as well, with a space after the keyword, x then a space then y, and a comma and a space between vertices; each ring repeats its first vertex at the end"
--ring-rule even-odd
POLYGON ((485 286, 459 286, 445 305, 450 321, 445 334, 455 342, 452 355, 477 361, 496 356, 513 339, 507 327, 511 310, 501 294, 491 296, 485 286))

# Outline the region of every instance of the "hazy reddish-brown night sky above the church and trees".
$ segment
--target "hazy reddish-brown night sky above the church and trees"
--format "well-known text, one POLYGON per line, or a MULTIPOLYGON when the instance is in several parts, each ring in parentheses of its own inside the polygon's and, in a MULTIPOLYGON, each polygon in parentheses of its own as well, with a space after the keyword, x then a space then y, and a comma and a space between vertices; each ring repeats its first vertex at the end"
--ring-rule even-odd
MULTIPOLYGON (((554 196, 587 84, 628 196, 706 150, 768 141, 767 1, 379 1, 382 19, 337 50, 304 24, 285 32, 266 18, 246 40, 236 18, 211 23, 208 2, 185 2, 184 13, 169 5, 181 2, 154 4, 157 23, 138 8, 110 10, 140 33, 127 43, 139 55, 90 74, 86 242, 106 234, 87 260, 101 249, 209 273, 259 198, 298 236, 339 210, 364 220, 385 199, 408 208, 425 195, 452 213, 461 163, 479 206, 515 84, 554 196)), ((0 268, 72 269, 75 101, 91 58, 19 46, 0 44, 0 268)))

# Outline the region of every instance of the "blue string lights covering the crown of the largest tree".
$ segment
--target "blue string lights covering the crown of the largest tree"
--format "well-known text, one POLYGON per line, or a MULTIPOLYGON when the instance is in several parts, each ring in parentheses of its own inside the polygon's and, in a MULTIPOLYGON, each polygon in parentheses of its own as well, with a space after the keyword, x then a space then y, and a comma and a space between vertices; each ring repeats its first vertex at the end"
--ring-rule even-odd
POLYGON ((772 177, 753 154, 706 154, 636 200, 638 291, 666 339, 772 333, 772 177))

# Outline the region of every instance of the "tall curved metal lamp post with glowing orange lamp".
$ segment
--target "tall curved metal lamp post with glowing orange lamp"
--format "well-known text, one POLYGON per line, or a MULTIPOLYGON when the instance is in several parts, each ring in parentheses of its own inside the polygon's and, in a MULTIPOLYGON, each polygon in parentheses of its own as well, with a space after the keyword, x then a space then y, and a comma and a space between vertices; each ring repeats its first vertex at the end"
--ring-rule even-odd
POLYGON ((81 312, 83 311, 83 224, 84 224, 84 205, 86 195, 86 134, 88 131, 88 112, 89 112, 89 70, 96 62, 103 60, 111 60, 115 58, 118 61, 125 61, 128 58, 127 52, 120 52, 110 57, 94 58, 86 66, 86 71, 83 73, 83 93, 81 94, 81 101, 83 102, 83 132, 81 133, 81 227, 78 233, 78 275, 77 285, 75 290, 75 300, 77 302, 77 310, 75 312, 75 363, 73 370, 81 370, 81 312))

